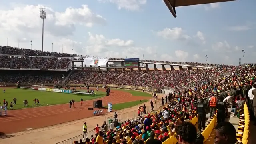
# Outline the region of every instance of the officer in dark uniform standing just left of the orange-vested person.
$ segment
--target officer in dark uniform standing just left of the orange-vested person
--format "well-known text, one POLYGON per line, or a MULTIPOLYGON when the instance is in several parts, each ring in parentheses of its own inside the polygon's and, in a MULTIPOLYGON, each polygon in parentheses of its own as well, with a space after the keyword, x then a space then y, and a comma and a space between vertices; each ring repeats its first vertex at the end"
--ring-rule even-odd
POLYGON ((206 105, 204 104, 204 99, 200 98, 199 103, 196 106, 196 114, 198 114, 198 130, 201 131, 205 129, 205 119, 206 119, 206 105))

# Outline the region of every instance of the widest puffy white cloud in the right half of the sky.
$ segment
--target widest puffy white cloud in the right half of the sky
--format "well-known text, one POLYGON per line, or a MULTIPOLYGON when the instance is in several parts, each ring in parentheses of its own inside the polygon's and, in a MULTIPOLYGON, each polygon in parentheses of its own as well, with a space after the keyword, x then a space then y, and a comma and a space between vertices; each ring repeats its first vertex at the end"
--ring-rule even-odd
POLYGON ((158 31, 156 33, 158 36, 161 36, 165 39, 172 39, 172 40, 188 40, 191 39, 190 36, 184 34, 184 30, 182 28, 164 28, 162 31, 158 31))

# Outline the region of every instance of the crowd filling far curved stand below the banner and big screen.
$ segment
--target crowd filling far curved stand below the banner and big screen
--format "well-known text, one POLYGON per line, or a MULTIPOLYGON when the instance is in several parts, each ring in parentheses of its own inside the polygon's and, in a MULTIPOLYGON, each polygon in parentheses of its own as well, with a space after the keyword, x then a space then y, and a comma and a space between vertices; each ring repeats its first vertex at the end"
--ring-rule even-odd
MULTIPOLYGON (((117 84, 161 88, 163 86, 174 89, 191 88, 202 82, 208 82, 213 77, 230 73, 236 70, 235 66, 226 66, 216 69, 199 70, 168 70, 168 71, 126 71, 126 72, 102 72, 92 79, 94 84, 117 84)), ((84 79, 88 79, 88 74, 84 79)), ((78 78, 81 79, 81 78, 78 78)), ((86 84, 86 83, 84 83, 86 84)))

